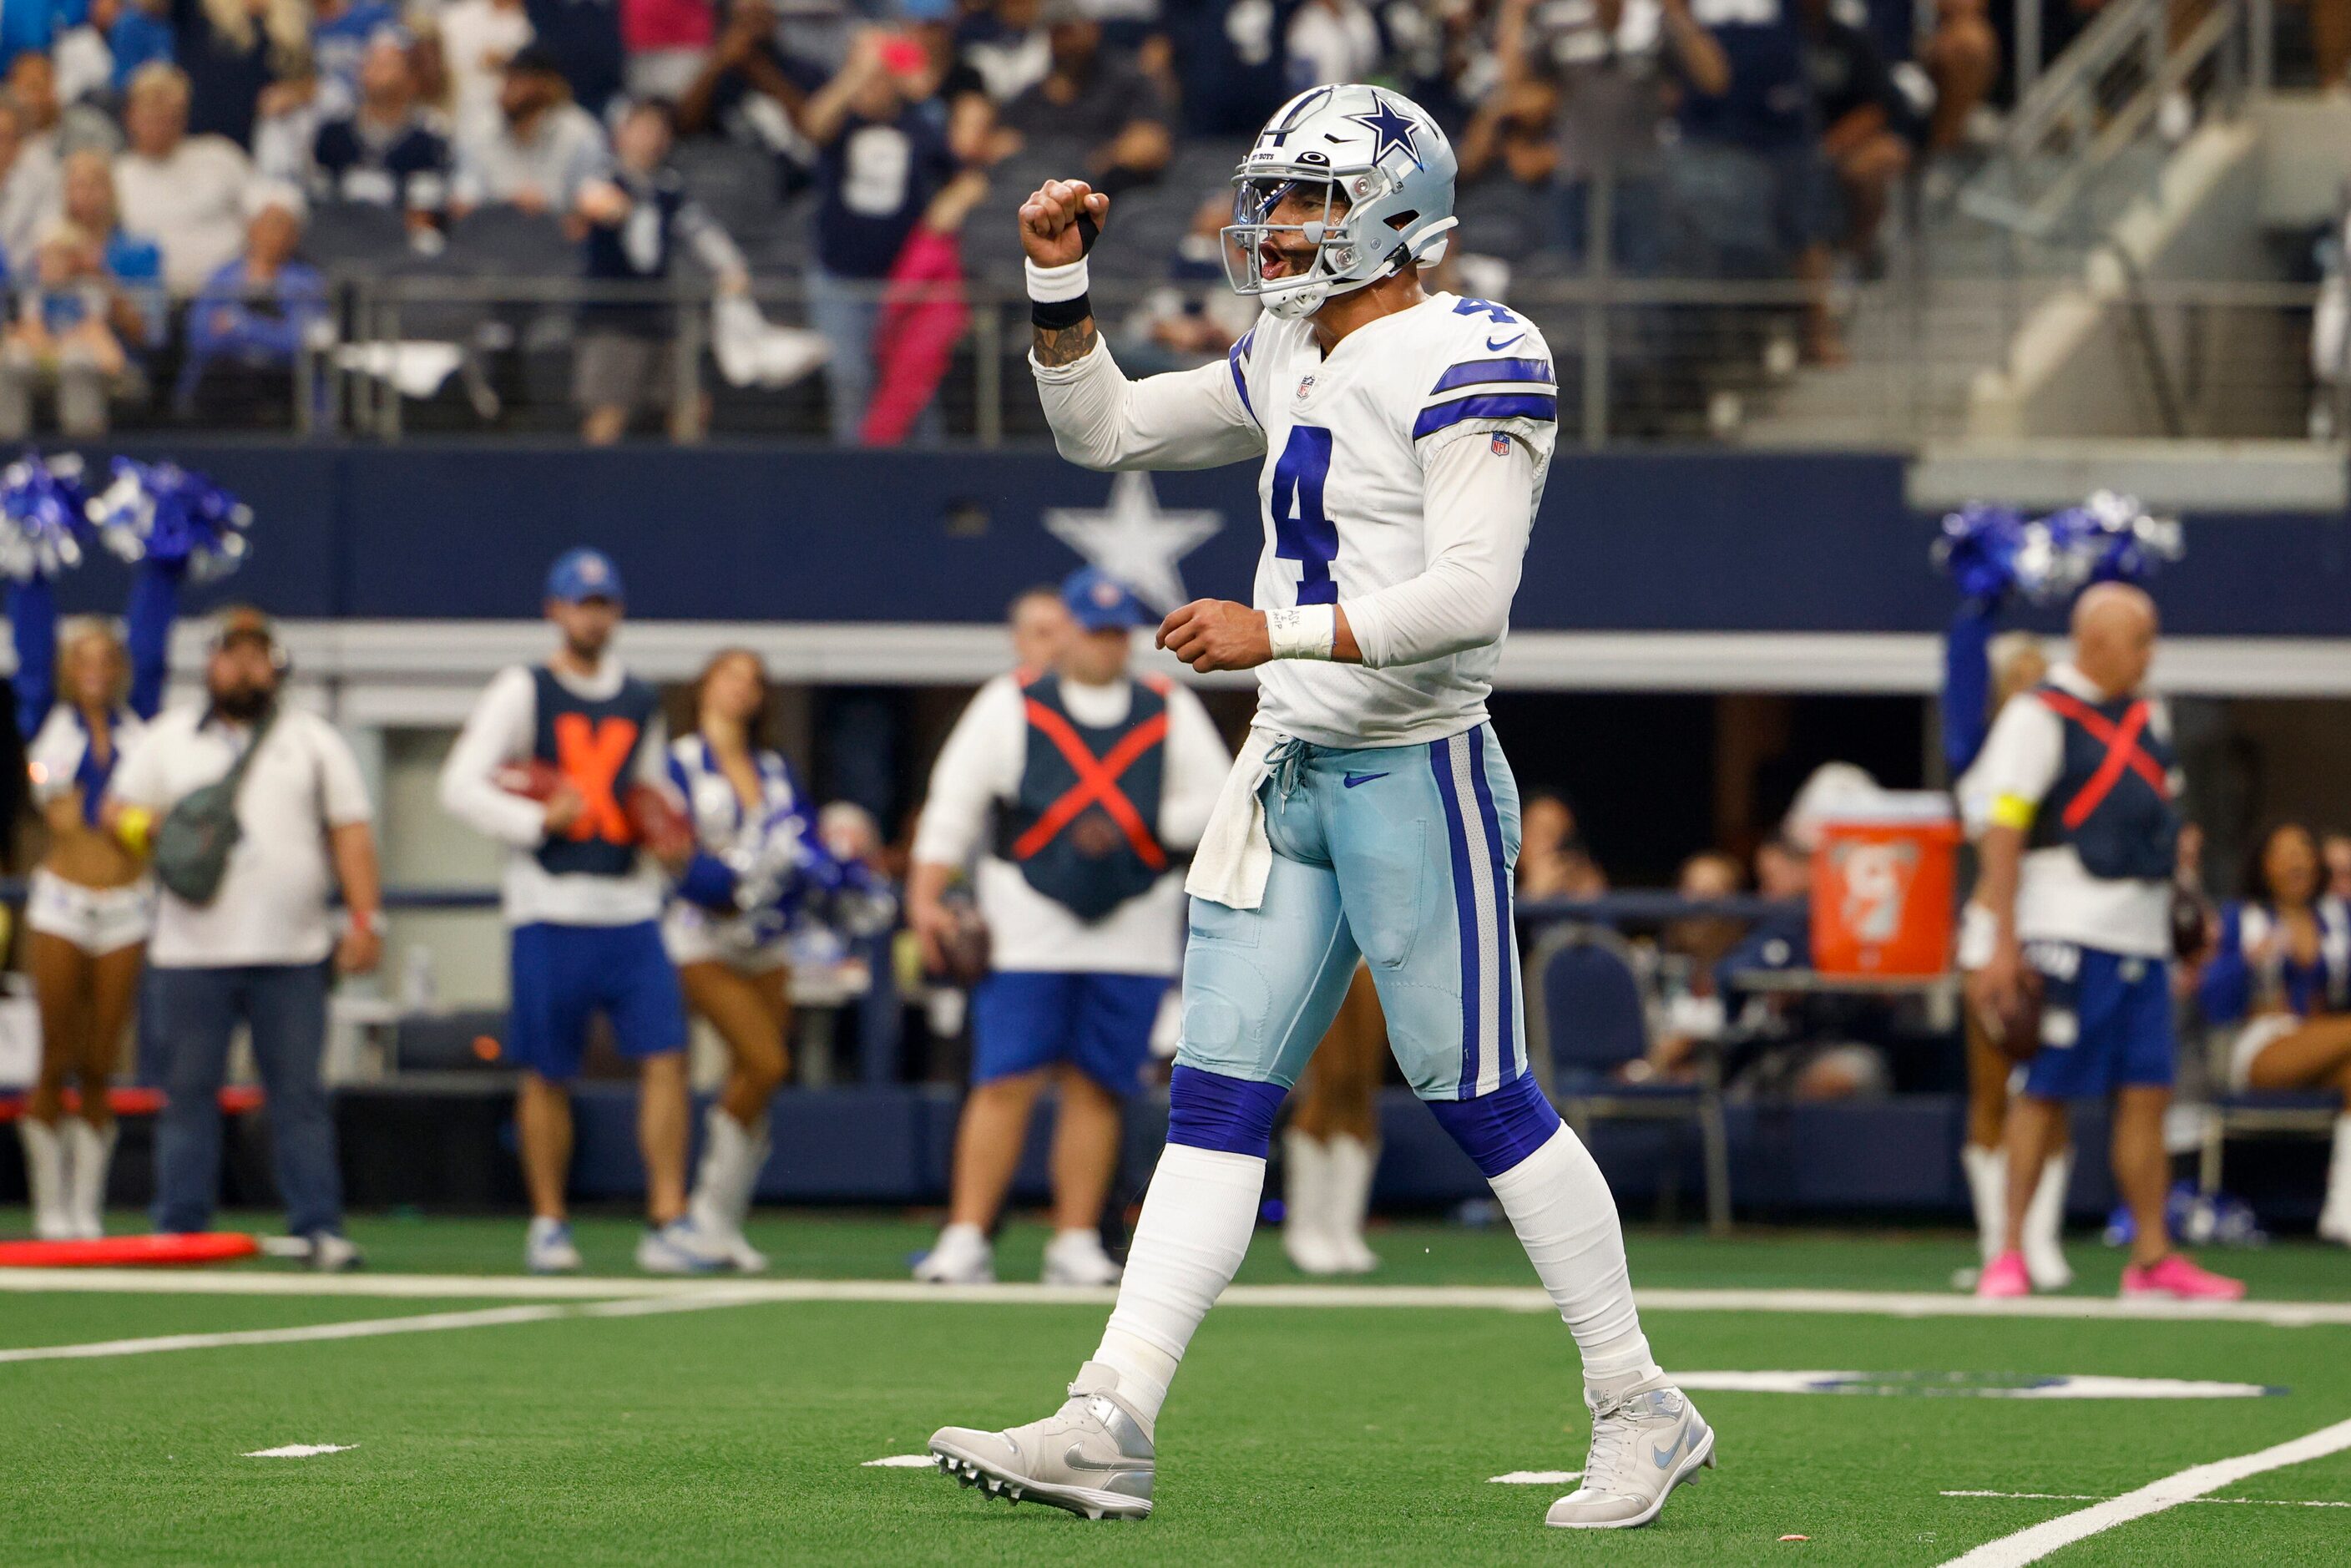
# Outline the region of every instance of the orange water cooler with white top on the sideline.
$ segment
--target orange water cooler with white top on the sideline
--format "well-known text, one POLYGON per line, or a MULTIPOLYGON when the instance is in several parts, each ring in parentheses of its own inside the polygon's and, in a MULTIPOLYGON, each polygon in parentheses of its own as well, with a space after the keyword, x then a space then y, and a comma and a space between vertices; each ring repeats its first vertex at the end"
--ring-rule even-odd
POLYGON ((1846 976, 1940 976, 1951 966, 1958 886, 1951 797, 1895 790, 1820 825, 1813 966, 1846 976))

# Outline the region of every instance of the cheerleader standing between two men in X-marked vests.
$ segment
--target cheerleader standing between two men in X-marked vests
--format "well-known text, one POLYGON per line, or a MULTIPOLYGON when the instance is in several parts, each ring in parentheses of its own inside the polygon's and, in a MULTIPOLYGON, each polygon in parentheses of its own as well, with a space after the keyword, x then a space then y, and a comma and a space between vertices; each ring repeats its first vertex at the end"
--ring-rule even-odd
POLYGON ((670 743, 670 783, 694 820, 696 856, 663 917, 686 1009, 726 1041, 726 1086, 703 1119, 703 1161, 686 1215, 701 1253, 755 1274, 743 1239, 766 1164, 766 1107, 790 1070, 788 940, 809 898, 835 898, 856 926, 886 919, 863 865, 842 865, 816 837, 792 769, 764 745, 766 670, 722 649, 694 682, 694 731, 670 743), (849 907, 853 905, 853 907, 849 907))

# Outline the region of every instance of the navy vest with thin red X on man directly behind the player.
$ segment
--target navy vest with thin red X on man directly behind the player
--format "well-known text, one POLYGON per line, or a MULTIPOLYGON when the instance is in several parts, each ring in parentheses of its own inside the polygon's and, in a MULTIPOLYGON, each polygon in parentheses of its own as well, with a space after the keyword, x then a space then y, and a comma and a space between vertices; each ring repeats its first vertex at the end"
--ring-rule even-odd
POLYGON ((1027 684, 1027 764, 997 813, 997 853, 1079 919, 1103 919, 1168 870, 1159 844, 1159 778, 1168 701, 1133 682, 1126 722, 1093 729, 1070 717, 1060 677, 1027 684))

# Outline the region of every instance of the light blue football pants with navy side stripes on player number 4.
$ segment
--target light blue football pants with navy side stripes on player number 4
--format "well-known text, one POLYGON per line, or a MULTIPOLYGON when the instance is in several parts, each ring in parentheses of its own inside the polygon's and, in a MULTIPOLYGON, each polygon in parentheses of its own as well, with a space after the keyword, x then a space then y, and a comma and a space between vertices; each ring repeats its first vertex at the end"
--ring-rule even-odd
POLYGON ((1364 750, 1286 741, 1262 799, 1262 905, 1192 900, 1178 1065, 1295 1084, 1361 957, 1422 1100, 1523 1077, 1519 785, 1493 726, 1364 750))

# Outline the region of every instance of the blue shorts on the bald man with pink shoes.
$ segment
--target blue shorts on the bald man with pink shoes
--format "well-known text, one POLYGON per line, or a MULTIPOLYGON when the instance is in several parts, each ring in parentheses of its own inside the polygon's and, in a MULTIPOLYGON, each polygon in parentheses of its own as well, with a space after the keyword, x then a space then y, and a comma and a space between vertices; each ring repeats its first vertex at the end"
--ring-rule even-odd
POLYGON ((2069 943, 2027 943, 2041 973, 2041 1051, 2024 1070, 2036 1100, 2090 1100, 2130 1086, 2170 1088, 2170 964, 2069 943))

